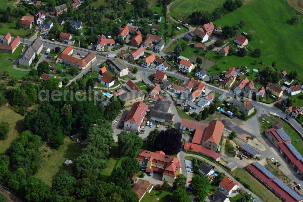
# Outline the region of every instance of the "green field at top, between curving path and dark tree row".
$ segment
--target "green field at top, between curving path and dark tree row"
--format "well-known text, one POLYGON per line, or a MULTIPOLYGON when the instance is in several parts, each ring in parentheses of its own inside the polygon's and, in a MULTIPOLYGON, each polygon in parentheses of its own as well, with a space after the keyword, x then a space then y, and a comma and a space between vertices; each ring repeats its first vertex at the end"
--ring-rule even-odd
POLYGON ((169 15, 176 20, 186 19, 194 11, 212 12, 216 7, 223 5, 225 0, 177 0, 169 8, 169 15))

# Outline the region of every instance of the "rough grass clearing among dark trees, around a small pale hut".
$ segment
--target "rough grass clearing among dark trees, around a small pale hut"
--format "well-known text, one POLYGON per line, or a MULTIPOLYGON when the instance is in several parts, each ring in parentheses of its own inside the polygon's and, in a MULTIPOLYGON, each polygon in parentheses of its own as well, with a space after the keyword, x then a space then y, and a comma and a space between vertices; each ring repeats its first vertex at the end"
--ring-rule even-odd
POLYGON ((63 170, 72 173, 72 168, 65 167, 63 163, 66 159, 69 159, 73 161, 73 166, 75 166, 76 158, 81 154, 81 147, 70 140, 69 137, 65 137, 64 143, 58 150, 44 145, 42 146, 42 153, 44 163, 36 173, 36 176, 40 177, 44 183, 52 185, 52 180, 58 173, 63 170))

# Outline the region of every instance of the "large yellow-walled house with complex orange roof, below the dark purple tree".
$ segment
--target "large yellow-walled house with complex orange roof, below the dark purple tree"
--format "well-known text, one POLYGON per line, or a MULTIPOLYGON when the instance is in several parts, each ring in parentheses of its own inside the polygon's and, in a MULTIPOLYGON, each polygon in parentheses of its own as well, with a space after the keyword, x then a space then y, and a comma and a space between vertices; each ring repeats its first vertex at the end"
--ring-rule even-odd
POLYGON ((176 157, 165 155, 162 151, 140 150, 136 158, 141 166, 146 166, 147 173, 161 173, 162 180, 173 183, 181 172, 181 161, 176 157))

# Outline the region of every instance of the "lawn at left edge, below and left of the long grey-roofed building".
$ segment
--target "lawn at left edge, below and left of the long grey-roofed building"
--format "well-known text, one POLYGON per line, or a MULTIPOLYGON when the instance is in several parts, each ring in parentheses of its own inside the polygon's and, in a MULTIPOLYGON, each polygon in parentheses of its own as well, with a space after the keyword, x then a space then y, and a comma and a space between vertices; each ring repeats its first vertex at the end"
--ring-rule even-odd
POLYGON ((22 43, 15 49, 13 54, 0 52, 0 71, 6 71, 10 76, 14 76, 18 79, 21 79, 23 76, 26 76, 28 72, 19 71, 13 69, 13 61, 9 61, 8 59, 16 60, 22 53, 22 43))

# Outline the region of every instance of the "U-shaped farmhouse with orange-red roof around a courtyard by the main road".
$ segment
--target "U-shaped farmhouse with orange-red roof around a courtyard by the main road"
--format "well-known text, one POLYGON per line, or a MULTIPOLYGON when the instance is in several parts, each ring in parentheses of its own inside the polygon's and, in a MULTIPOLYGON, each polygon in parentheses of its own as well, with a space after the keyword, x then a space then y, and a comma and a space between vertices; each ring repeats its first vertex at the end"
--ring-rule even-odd
POLYGON ((72 56, 74 48, 72 45, 68 45, 62 53, 57 57, 58 62, 66 64, 78 69, 86 69, 90 66, 95 60, 96 55, 93 52, 89 52, 84 58, 78 59, 72 56))

